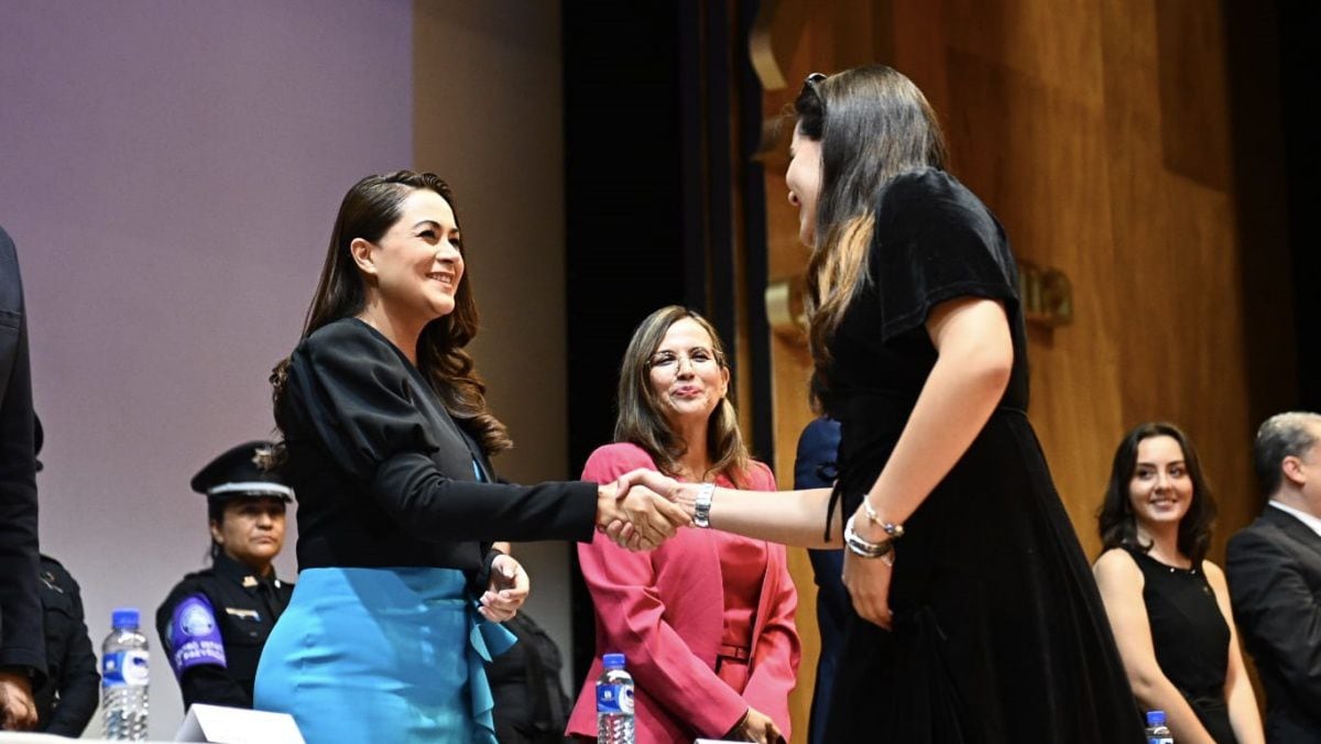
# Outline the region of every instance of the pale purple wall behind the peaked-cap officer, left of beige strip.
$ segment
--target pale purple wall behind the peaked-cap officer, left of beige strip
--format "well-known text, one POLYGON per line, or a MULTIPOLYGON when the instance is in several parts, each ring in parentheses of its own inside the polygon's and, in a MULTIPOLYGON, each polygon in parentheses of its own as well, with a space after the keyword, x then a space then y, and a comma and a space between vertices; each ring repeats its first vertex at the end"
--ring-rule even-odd
MULTIPOLYGON (((408 1, 4 3, 0 225, 46 429, 42 546, 98 644, 114 605, 153 614, 202 566, 188 480, 269 432, 266 377, 339 198, 411 163, 408 1)), ((151 733, 169 739, 180 700, 153 663, 151 733)))

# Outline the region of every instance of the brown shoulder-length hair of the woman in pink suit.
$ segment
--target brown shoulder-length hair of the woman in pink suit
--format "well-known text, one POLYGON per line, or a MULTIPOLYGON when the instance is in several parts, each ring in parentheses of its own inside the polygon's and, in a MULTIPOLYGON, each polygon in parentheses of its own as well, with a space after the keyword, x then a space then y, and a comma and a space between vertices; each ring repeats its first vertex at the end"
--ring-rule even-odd
MULTIPOLYGON (((633 332, 624 363, 620 365, 620 416, 614 422, 614 440, 627 441, 645 449, 657 463, 657 468, 667 476, 679 474, 679 460, 688 451, 688 444, 672 429, 662 414, 660 400, 651 387, 651 357, 664 341, 670 326, 683 318, 692 318, 711 336, 711 350, 721 369, 728 370, 724 344, 711 322, 688 308, 668 305, 649 315, 633 332)), ((701 477, 725 476, 736 486, 746 484, 750 456, 738 429, 738 414, 734 411, 729 394, 711 412, 707 426, 707 451, 712 465, 701 477)))

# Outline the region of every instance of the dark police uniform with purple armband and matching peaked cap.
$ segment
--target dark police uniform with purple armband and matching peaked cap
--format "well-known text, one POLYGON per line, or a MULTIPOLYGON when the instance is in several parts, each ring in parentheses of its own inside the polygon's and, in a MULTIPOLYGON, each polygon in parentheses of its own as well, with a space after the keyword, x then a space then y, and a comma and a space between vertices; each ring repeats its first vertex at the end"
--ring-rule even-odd
MULTIPOLYGON (((275 497, 291 501, 292 489, 255 463, 268 443, 239 445, 193 478, 193 490, 209 500, 275 497)), ((262 648, 289 604, 293 584, 258 576, 248 566, 215 551, 210 568, 189 574, 156 611, 156 630, 184 694, 193 703, 252 707, 262 648)))

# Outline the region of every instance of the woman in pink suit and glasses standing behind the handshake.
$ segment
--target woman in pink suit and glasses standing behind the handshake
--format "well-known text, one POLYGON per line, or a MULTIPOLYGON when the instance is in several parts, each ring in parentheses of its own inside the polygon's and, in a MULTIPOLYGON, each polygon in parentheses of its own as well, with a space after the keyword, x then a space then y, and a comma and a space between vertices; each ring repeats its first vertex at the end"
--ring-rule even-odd
MULTIPOLYGON (((729 367, 711 324, 678 305, 651 313, 620 370, 616 443, 592 453, 583 480, 610 482, 649 468, 774 490, 770 469, 748 456, 728 391, 729 367)), ((704 526, 700 514, 696 526, 704 526)), ((579 546, 579 560, 597 608, 597 661, 569 735, 596 737, 601 654, 618 651, 637 682, 638 744, 789 740, 798 595, 783 546, 694 529, 633 554, 597 535, 579 546)))

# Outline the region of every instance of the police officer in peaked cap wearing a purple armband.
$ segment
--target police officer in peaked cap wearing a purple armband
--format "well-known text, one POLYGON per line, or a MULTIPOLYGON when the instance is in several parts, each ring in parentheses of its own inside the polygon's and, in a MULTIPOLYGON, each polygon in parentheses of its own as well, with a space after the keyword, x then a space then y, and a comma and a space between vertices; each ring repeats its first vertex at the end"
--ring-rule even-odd
POLYGON ((268 448, 267 441, 240 444, 192 481, 206 494, 213 566, 185 576, 156 611, 185 708, 252 707, 262 648, 293 593, 272 567, 284 547, 293 490, 259 465, 268 448))

